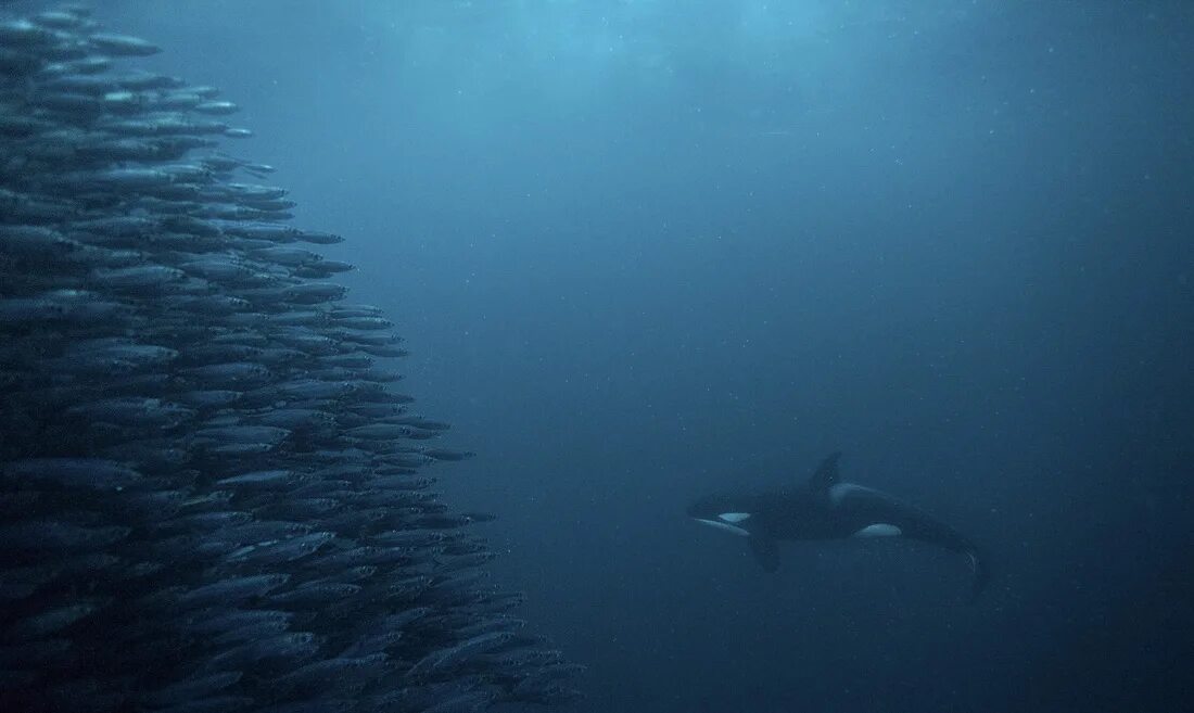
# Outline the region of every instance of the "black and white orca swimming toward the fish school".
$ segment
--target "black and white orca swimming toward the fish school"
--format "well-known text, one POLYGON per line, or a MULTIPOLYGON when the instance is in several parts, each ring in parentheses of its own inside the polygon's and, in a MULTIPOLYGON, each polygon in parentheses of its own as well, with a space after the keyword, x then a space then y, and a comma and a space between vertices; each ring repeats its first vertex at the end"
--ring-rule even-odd
POLYGON ((755 494, 718 493, 701 498, 688 515, 702 524, 746 537, 755 559, 768 572, 780 567, 777 541, 901 537, 965 555, 971 598, 987 580, 979 548, 961 533, 887 493, 842 482, 837 461, 826 457, 805 484, 755 494))

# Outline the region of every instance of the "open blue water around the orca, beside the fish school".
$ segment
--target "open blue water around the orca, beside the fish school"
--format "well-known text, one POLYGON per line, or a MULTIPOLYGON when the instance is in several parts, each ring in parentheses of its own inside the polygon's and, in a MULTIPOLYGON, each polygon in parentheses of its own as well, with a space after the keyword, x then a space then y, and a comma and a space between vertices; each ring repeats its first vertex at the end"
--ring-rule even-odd
POLYGON ((100 5, 349 236, 576 709, 1189 707, 1187 4, 100 5), (978 603, 683 516, 833 449, 978 603))

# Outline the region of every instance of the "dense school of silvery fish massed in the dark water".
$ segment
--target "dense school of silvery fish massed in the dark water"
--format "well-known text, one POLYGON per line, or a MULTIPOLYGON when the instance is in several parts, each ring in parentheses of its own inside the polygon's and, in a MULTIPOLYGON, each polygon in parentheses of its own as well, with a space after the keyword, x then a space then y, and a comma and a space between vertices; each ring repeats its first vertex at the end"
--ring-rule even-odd
POLYGON ((392 391, 222 149, 236 105, 68 6, 0 18, 0 709, 460 713, 579 694, 392 391))

